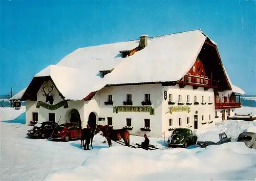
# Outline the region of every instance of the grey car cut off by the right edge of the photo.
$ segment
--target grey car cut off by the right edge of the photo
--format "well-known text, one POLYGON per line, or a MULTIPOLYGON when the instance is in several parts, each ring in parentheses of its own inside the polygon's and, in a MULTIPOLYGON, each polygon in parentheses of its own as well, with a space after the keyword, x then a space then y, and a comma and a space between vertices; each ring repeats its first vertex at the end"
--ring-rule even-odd
POLYGON ((238 136, 238 142, 244 142, 248 148, 256 149, 256 132, 242 132, 238 136))

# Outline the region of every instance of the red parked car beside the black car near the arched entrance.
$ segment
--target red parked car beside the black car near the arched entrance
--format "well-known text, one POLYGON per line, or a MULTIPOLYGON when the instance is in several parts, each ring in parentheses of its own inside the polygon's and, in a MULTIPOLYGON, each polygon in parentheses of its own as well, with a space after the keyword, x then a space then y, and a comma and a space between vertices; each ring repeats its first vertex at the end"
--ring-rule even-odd
POLYGON ((63 140, 70 141, 73 139, 81 138, 81 127, 75 123, 65 123, 58 126, 57 130, 54 130, 51 140, 63 140))

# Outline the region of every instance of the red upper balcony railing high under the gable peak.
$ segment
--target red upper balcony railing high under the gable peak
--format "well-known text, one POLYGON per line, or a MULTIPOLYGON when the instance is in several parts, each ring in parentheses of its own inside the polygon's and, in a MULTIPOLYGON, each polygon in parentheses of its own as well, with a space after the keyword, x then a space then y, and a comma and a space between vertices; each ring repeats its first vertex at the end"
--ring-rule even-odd
POLYGON ((199 77, 194 75, 185 75, 183 82, 188 85, 196 85, 203 87, 218 87, 217 81, 208 79, 205 77, 199 77))

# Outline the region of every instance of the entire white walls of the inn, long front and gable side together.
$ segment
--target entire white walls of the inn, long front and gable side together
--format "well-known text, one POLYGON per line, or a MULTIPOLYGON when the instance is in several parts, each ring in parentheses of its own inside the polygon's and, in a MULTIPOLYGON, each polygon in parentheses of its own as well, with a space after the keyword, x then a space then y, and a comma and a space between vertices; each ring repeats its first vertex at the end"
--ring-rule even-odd
MULTIPOLYGON (((46 81, 44 85, 48 87, 52 85, 51 81, 46 81)), ((46 88, 47 90, 48 88, 46 88)), ((63 101, 59 96, 56 88, 51 95, 54 98, 54 104, 63 101)), ((220 94, 221 95, 221 94, 220 94)), ((194 130, 207 127, 222 120, 221 111, 215 110, 214 89, 204 90, 203 87, 193 89, 193 86, 185 86, 180 88, 175 86, 162 86, 161 84, 144 84, 144 85, 123 85, 109 86, 99 90, 90 101, 67 101, 68 108, 63 106, 56 110, 49 110, 40 106, 37 108, 37 102, 46 101, 46 97, 42 96, 41 88, 37 93, 37 101, 26 101, 26 123, 32 121, 33 112, 38 112, 38 122, 48 121, 49 113, 55 114, 55 122, 59 124, 70 122, 70 111, 76 109, 79 112, 82 128, 86 127, 89 115, 94 112, 96 115, 96 124, 106 125, 108 119, 112 120, 115 129, 126 126, 126 119, 131 119, 131 134, 143 135, 146 133, 150 137, 163 137, 169 134, 169 128, 189 127, 194 130), (166 91, 166 100, 164 92, 166 91), (132 106, 148 107, 154 109, 154 115, 150 112, 133 112, 118 111, 114 112, 114 107, 125 106, 126 95, 132 95, 132 106), (152 105, 142 105, 145 100, 145 94, 150 94, 152 105), (113 105, 105 105, 108 102, 109 95, 112 97, 113 105), (169 104, 168 102, 172 102, 169 104), (196 103, 196 104, 195 104, 196 103), (184 111, 170 111, 170 108, 184 108, 184 111), (171 114, 172 112, 172 114, 171 114), (101 118, 101 119, 99 119, 101 118), (151 131, 142 131, 140 128, 145 127, 145 119, 150 120, 151 131)), ((49 102, 47 103, 49 104, 49 102)), ((130 107, 126 105, 125 107, 130 107)), ((228 114, 234 115, 234 108, 225 109, 225 120, 228 114), (227 112, 228 111, 228 112, 227 112)))

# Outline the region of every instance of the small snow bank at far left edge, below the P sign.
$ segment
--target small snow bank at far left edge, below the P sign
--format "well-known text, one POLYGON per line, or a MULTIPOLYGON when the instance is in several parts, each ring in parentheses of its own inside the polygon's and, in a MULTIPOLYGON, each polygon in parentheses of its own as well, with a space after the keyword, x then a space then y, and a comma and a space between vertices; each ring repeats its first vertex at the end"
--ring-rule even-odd
POLYGON ((0 107, 0 121, 8 121, 17 118, 26 111, 26 107, 22 106, 15 110, 13 107, 0 107))

